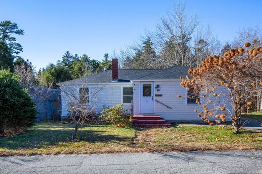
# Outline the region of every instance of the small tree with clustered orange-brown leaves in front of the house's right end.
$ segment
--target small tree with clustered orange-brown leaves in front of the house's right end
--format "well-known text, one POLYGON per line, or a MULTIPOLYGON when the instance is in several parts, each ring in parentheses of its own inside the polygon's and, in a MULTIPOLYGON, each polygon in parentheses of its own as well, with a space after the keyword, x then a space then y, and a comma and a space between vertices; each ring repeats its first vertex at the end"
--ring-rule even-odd
POLYGON ((180 76, 182 87, 191 90, 193 95, 202 94, 203 101, 197 100, 197 103, 203 106, 204 112, 198 116, 211 126, 229 118, 234 133, 239 133, 243 125, 241 108, 251 105, 248 101, 257 97, 257 90, 262 89, 262 47, 248 49, 251 44, 247 42, 244 46, 246 48, 230 49, 224 56, 209 56, 201 66, 190 68, 186 78, 180 76), (212 108, 208 108, 211 103, 212 108), (209 117, 217 120, 211 121, 209 117))

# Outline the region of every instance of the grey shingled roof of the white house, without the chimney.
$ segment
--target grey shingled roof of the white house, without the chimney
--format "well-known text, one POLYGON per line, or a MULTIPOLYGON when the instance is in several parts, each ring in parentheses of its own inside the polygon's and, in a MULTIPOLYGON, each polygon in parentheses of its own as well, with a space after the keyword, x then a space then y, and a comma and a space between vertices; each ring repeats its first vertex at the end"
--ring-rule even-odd
MULTIPOLYGON (((180 75, 185 76, 187 74, 187 70, 187 67, 178 65, 166 69, 119 69, 118 78, 121 80, 179 79, 180 75)), ((108 70, 87 77, 60 82, 58 84, 109 83, 112 82, 112 80, 112 70, 108 70)))

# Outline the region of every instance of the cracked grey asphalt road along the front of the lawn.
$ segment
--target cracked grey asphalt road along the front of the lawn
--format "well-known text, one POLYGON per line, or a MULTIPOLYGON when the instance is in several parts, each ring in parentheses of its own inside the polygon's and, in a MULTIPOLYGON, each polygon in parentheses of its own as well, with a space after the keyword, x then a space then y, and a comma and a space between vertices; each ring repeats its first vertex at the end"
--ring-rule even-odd
POLYGON ((11 156, 0 173, 262 173, 262 151, 11 156))

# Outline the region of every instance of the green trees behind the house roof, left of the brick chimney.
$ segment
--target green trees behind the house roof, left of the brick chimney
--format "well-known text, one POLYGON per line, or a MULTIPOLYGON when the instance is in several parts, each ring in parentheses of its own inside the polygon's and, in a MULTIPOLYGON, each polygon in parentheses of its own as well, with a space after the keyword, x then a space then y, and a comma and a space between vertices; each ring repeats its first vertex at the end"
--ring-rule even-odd
POLYGON ((56 64, 49 64, 37 73, 37 83, 39 86, 47 88, 57 88, 56 83, 63 82, 83 76, 102 72, 104 69, 111 69, 112 61, 108 60, 106 53, 102 62, 91 60, 86 54, 73 56, 69 51, 65 52, 62 60, 56 64))

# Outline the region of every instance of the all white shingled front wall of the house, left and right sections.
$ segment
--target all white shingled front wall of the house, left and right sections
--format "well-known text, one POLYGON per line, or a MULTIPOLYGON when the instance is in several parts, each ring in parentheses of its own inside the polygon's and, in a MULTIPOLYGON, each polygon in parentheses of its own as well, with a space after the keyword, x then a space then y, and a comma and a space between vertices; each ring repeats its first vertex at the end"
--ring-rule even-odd
MULTIPOLYGON (((122 88, 123 87, 133 87, 133 103, 134 103, 134 115, 140 114, 140 95, 141 95, 141 85, 140 81, 134 81, 134 83, 125 84, 106 84, 106 85, 67 85, 61 86, 61 119, 67 118, 68 102, 70 101, 70 95, 67 92, 77 91, 79 88, 88 87, 90 92, 90 106, 95 108, 95 112, 99 115, 103 109, 110 108, 114 105, 122 103, 122 88), (95 95, 93 95, 95 94, 95 95)), ((180 81, 154 81, 154 115, 160 115, 165 120, 169 121, 201 121, 197 117, 198 113, 194 110, 202 111, 203 108, 199 105, 187 105, 187 91, 185 88, 180 86, 180 81), (160 85, 159 91, 155 89, 156 85, 160 85), (162 94, 162 97, 155 97, 156 94, 162 94), (181 98, 177 98, 177 95, 181 95, 181 98), (166 106, 156 102, 159 102, 171 107, 166 106)), ((219 94, 220 89, 217 89, 219 94)), ((222 96, 222 94, 221 94, 222 96)), ((215 101, 217 98, 211 97, 211 100, 215 101)), ((202 99, 201 99, 202 102, 202 99)), ((220 103, 226 103, 227 108, 230 110, 231 104, 226 98, 220 97, 220 103)), ((130 104, 125 104, 124 107, 130 112, 130 104)), ((212 108, 212 104, 208 105, 208 108, 212 108)), ((218 113, 219 114, 219 113, 218 113)))

